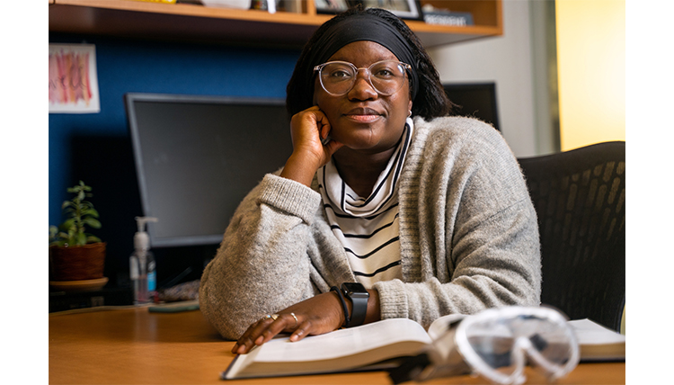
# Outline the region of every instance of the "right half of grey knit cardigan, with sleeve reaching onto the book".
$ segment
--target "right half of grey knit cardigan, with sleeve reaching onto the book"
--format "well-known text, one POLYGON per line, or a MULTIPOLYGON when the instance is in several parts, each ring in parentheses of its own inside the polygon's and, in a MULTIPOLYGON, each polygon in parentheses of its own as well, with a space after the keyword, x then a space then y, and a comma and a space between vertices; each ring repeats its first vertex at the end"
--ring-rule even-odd
POLYGON ((414 212, 406 219, 414 226, 404 227, 413 245, 402 255, 411 273, 377 282, 381 317, 429 327, 452 313, 537 306, 537 216, 510 148, 496 130, 472 119, 417 125, 432 130, 412 173, 418 183, 401 198, 401 210, 414 212))

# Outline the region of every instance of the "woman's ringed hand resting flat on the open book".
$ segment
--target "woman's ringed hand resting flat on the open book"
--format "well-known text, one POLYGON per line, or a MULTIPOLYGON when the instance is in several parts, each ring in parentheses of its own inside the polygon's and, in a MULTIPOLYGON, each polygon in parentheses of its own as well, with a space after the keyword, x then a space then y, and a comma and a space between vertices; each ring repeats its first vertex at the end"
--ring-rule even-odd
POLYGON ((246 354, 253 346, 262 345, 281 332, 292 333, 290 341, 296 342, 305 336, 332 332, 344 324, 341 302, 333 291, 298 302, 277 314, 276 319, 265 317, 248 327, 236 341, 232 353, 246 354))

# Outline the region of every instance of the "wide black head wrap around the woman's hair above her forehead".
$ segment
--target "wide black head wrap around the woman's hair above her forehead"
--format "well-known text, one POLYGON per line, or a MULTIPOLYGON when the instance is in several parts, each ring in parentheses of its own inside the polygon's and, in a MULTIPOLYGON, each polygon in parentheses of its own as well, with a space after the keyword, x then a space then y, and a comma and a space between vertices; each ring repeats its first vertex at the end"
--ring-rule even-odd
POLYGON ((419 88, 419 77, 416 71, 416 60, 412 47, 404 39, 403 35, 395 29, 393 25, 385 20, 369 13, 355 14, 347 17, 341 22, 333 24, 323 36, 317 40, 309 53, 310 67, 307 74, 308 79, 313 79, 314 67, 323 64, 333 56, 335 52, 345 45, 354 41, 374 41, 386 49, 390 50, 398 60, 409 64, 412 67, 410 71, 410 88, 412 92, 412 101, 419 88))

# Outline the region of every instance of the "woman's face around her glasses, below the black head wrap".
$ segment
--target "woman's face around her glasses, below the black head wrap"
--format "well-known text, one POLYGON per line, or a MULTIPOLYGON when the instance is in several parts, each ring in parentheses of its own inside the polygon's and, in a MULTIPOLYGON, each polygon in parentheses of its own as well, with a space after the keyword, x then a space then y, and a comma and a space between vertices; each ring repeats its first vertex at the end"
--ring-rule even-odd
MULTIPOLYGON (((395 59, 395 55, 373 41, 355 41, 334 53, 327 61, 348 61, 367 68, 377 61, 395 59)), ((352 150, 377 154, 395 148, 403 135, 404 123, 412 110, 409 80, 395 94, 377 94, 368 83, 365 71, 359 71, 353 88, 341 96, 325 92, 316 76, 314 103, 330 121, 330 136, 352 150)), ((342 148, 345 149, 345 148, 342 148)))

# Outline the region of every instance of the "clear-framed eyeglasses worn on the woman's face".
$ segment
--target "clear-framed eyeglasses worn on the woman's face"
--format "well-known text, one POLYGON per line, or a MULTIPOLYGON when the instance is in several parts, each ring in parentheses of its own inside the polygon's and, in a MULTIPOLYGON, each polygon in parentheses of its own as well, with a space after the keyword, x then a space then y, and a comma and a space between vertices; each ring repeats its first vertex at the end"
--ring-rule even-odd
POLYGON ((356 84, 360 70, 365 71, 369 85, 377 94, 390 96, 404 85, 405 74, 412 67, 397 60, 377 61, 368 68, 357 68, 347 61, 329 61, 314 67, 326 93, 333 96, 347 94, 356 84))

